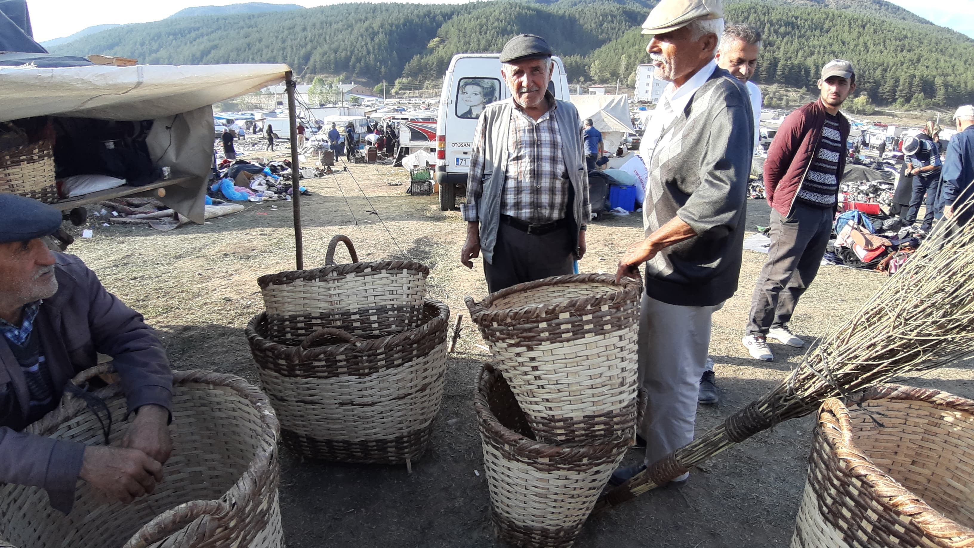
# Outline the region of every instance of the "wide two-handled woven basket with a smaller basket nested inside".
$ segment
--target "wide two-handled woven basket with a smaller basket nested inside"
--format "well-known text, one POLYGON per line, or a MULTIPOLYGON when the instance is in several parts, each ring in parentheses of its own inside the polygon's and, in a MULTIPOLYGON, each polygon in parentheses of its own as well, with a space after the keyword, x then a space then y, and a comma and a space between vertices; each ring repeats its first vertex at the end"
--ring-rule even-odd
POLYGON ((411 466, 429 446, 439 412, 450 320, 439 301, 428 299, 422 310, 418 318, 376 311, 368 321, 379 330, 339 324, 300 345, 272 340, 267 314, 251 320, 247 341, 284 445, 326 460, 411 466))

